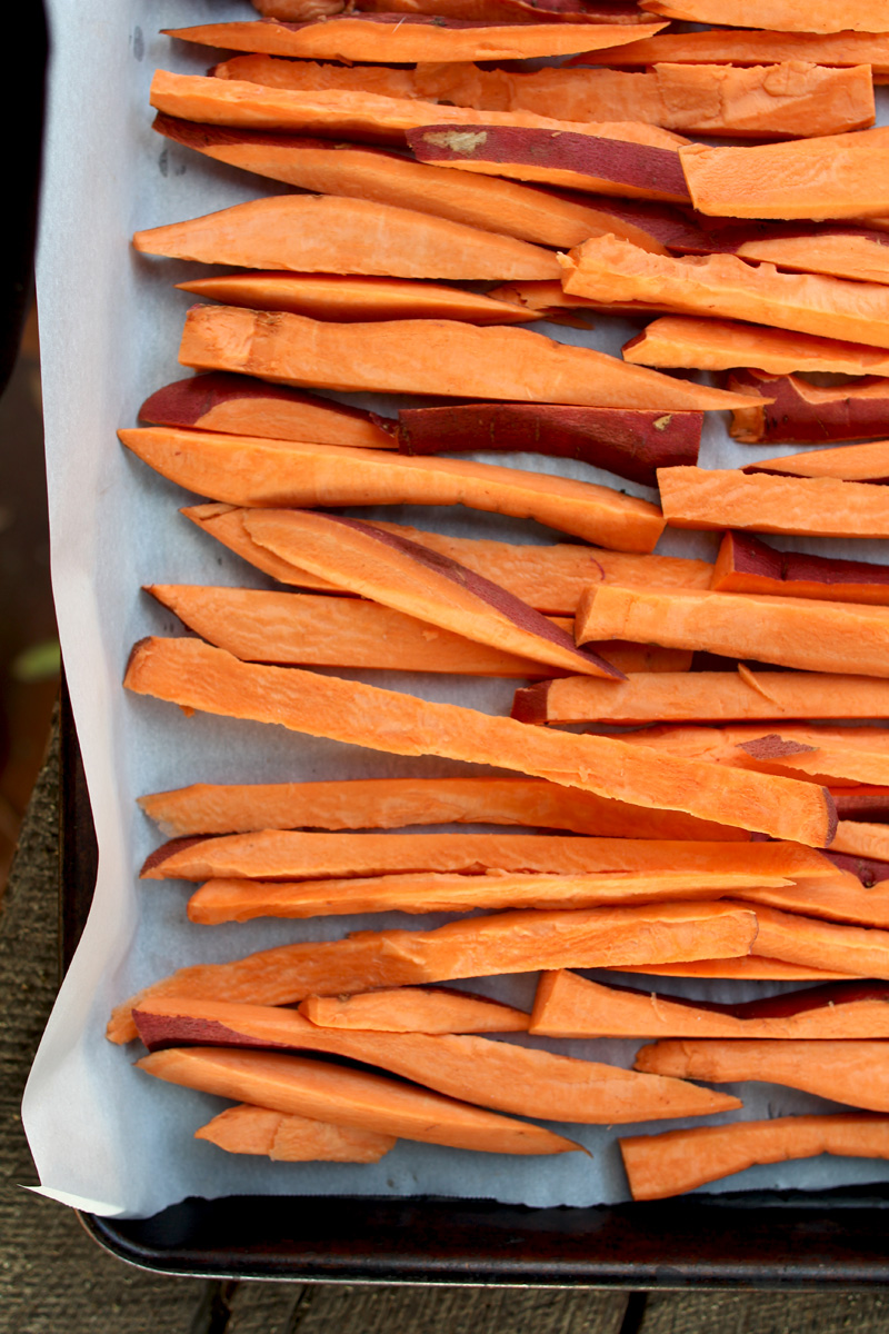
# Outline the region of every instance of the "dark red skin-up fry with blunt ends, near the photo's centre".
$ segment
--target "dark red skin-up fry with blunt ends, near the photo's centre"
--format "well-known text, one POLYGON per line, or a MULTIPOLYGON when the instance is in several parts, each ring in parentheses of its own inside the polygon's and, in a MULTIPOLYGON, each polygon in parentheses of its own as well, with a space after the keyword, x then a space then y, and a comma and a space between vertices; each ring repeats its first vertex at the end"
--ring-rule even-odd
POLYGON ((534 403, 466 403, 399 412, 403 454, 508 450, 580 459, 642 486, 657 468, 694 466, 702 412, 572 408, 534 403))

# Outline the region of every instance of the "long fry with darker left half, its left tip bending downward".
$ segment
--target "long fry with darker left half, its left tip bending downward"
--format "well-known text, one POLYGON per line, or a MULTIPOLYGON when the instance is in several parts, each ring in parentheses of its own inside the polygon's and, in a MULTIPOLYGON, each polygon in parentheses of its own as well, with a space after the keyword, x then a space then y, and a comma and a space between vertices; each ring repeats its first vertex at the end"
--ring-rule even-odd
POLYGON ((461 919, 433 931, 360 931, 344 940, 285 944, 231 963, 179 968, 119 1005, 107 1035, 129 1042, 136 1037, 133 1007, 159 996, 284 1006, 311 995, 498 972, 736 958, 749 952, 754 935, 749 908, 721 903, 529 910, 461 919))

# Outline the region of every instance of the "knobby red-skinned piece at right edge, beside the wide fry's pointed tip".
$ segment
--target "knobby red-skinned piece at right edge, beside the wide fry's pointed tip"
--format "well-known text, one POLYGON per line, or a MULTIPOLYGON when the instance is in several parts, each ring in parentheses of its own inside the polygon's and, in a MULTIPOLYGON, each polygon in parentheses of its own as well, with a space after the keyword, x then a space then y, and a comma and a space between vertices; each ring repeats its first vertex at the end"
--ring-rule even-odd
POLYGON ((797 375, 732 371, 726 388, 749 394, 750 407, 732 414, 740 444, 826 444, 889 436, 889 379, 818 388, 797 375), (769 398, 772 403, 757 399, 769 398))

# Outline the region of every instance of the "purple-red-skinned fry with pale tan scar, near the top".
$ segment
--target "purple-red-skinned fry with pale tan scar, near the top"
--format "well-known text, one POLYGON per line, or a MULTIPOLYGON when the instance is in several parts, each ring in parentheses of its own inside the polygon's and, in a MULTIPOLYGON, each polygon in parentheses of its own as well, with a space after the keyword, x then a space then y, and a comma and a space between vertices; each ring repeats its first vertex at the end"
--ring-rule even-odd
POLYGON ((678 153, 669 148, 513 125, 424 125, 407 137, 420 161, 443 167, 690 203, 678 153))

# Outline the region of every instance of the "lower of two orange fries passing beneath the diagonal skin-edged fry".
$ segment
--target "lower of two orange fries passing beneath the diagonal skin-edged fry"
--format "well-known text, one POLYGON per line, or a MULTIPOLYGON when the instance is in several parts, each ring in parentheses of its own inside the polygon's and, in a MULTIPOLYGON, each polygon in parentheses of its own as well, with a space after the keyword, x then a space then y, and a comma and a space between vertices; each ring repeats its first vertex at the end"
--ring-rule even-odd
MULTIPOLYGON (((359 598, 189 584, 149 584, 145 591, 189 630, 243 662, 474 676, 538 676, 552 671, 540 658, 477 643, 359 598)), ((553 628, 566 636, 572 626, 570 620, 553 622, 553 628)))

